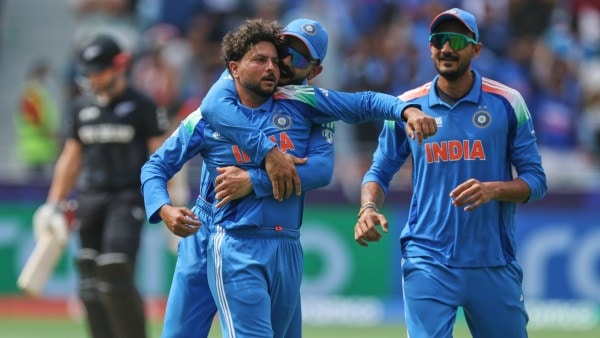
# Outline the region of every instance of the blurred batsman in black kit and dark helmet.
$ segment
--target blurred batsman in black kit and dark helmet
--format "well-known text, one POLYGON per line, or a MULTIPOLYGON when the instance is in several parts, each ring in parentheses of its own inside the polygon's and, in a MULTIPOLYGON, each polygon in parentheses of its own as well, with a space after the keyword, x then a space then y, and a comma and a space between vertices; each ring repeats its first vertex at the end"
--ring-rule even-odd
POLYGON ((83 94, 73 102, 64 149, 34 227, 44 227, 43 220, 60 213, 76 189, 79 296, 89 333, 146 337, 144 303, 134 278, 145 222, 139 177, 164 140, 167 117, 129 85, 130 54, 116 39, 96 37, 80 50, 77 62, 83 94), (48 216, 39 217, 44 213, 48 216))

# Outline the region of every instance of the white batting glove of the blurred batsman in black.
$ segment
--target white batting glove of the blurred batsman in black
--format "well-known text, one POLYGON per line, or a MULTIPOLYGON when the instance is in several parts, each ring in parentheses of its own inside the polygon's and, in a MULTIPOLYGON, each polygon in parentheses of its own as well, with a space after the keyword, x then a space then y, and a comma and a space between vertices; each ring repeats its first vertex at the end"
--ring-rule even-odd
POLYGON ((69 224, 61 203, 46 202, 33 214, 33 234, 38 241, 46 231, 51 232, 55 240, 63 245, 69 241, 69 224))

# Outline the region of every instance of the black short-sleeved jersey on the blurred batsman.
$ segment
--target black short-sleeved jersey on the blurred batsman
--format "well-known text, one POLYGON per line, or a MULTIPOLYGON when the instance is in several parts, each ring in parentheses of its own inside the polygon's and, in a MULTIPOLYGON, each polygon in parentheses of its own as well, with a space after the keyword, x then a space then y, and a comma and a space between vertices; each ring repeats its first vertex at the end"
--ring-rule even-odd
POLYGON ((106 106, 87 96, 77 99, 67 128, 68 137, 83 145, 77 190, 139 189, 148 140, 166 131, 165 119, 151 99, 132 88, 106 106))

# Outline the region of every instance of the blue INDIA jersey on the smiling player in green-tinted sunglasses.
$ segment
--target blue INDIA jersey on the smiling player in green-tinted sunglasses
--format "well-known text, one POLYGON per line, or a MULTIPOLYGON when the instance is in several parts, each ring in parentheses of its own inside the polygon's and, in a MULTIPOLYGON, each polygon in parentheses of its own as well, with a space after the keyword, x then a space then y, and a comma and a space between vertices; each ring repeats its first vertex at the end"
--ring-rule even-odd
POLYGON ((475 178, 510 181, 514 169, 531 188, 529 200, 546 193, 546 177, 529 111, 521 95, 474 72, 468 95, 454 106, 436 94, 435 83, 406 92, 434 117, 438 131, 419 145, 404 126, 387 122, 363 184, 377 182, 384 192, 400 166, 412 156, 413 196, 400 241, 405 257, 431 257, 456 267, 502 266, 515 252, 515 203, 492 200, 473 211, 454 207, 450 192, 475 178))

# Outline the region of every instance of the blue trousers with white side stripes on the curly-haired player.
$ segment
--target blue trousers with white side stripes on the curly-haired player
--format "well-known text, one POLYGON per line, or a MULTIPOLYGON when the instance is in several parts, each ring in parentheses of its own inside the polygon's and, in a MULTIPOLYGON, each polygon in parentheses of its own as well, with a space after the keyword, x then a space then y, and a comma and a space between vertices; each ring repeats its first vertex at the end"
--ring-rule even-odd
POLYGON ((208 279, 223 337, 301 338, 299 231, 215 228, 208 279))

